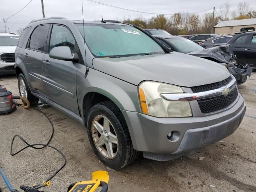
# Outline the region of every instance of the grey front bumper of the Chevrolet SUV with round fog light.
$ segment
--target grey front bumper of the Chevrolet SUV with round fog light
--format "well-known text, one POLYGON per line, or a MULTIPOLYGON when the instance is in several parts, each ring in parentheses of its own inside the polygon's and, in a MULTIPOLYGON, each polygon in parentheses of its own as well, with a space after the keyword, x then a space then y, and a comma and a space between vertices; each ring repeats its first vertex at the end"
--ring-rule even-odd
POLYGON ((134 149, 142 151, 146 158, 170 160, 173 155, 191 152, 231 135, 240 125, 245 111, 244 99, 239 94, 232 108, 203 117, 156 118, 138 112, 122 110, 122 113, 134 149), (171 141, 167 135, 174 131, 179 132, 179 137, 171 141))

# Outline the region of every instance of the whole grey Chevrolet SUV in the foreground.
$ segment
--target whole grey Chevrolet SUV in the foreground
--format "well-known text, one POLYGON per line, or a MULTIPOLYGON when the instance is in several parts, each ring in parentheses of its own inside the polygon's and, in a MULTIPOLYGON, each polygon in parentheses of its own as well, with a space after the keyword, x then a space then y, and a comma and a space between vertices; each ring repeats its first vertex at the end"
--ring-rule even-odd
POLYGON ((34 20, 15 66, 20 94, 84 124, 94 153, 116 170, 139 152, 166 161, 221 140, 246 110, 226 68, 116 21, 34 20))

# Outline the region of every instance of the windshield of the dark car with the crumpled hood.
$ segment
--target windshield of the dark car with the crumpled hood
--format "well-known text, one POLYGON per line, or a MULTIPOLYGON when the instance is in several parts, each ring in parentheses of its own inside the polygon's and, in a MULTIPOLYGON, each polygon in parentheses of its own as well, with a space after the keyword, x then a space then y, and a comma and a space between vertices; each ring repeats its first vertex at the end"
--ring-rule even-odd
POLYGON ((170 38, 166 40, 170 42, 173 46, 175 46, 179 50, 179 52, 182 53, 204 50, 202 46, 186 38, 170 38))

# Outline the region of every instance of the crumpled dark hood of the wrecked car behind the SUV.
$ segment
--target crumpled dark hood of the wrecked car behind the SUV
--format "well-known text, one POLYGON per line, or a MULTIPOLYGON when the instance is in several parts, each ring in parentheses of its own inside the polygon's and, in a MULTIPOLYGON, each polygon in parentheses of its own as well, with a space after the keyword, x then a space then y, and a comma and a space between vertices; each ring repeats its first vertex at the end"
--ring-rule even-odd
POLYGON ((188 54, 227 64, 234 56, 231 45, 216 46, 201 51, 193 51, 188 54))

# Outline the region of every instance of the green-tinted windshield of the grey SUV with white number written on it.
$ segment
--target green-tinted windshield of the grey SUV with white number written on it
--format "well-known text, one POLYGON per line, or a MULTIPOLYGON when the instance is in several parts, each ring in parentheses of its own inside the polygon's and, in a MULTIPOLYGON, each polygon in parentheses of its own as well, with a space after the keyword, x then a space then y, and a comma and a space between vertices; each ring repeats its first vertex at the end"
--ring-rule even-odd
POLYGON ((112 24, 76 24, 94 56, 132 56, 163 54, 162 47, 133 26, 112 24))

